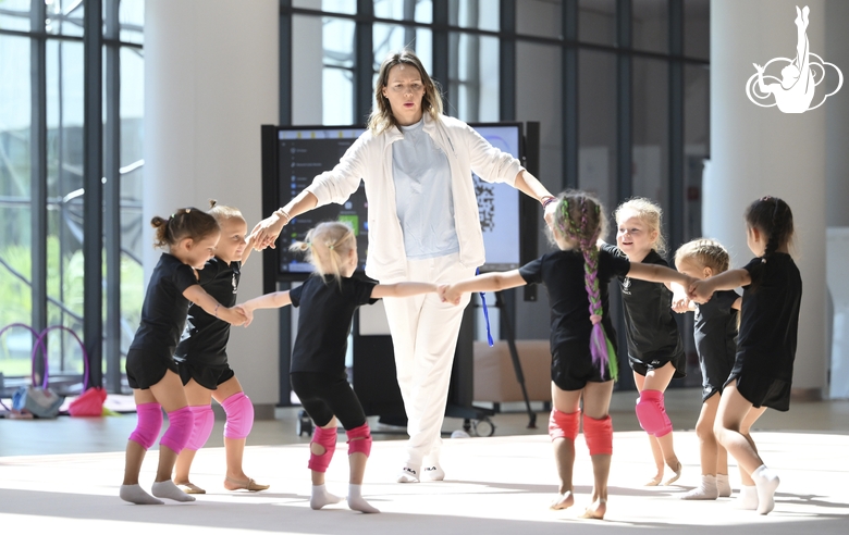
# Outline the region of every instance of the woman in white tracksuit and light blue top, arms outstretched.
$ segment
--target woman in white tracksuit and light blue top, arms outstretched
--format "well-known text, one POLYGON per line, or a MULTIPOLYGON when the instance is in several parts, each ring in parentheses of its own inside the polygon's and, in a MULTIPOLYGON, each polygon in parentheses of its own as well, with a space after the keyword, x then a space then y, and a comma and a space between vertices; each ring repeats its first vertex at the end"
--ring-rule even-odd
MULTIPOLYGON (((374 92, 369 129, 332 171, 254 228, 257 248, 273 244, 292 217, 345 202, 361 179, 369 206, 366 274, 381 284, 447 284, 472 276, 484 261, 472 172, 509 184, 543 207, 554 200, 517 159, 442 114, 439 90, 413 52, 383 61, 374 92)), ((441 428, 468 300, 467 295, 460 307, 441 302, 435 294, 383 300, 408 420, 401 483, 445 476, 439 463, 441 428)))

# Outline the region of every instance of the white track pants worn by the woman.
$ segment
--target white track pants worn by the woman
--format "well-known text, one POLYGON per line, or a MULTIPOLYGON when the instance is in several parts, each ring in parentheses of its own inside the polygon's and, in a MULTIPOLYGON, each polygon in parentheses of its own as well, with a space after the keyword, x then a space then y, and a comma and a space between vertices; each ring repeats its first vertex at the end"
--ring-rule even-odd
MULTIPOLYGON (((450 254, 408 260, 407 275, 408 281, 445 284, 471 277, 475 269, 460 265, 457 254, 450 254)), ((421 465, 424 457, 439 459, 454 350, 470 297, 466 294, 456 307, 441 302, 436 294, 383 299, 407 412, 407 462, 411 465, 421 465)))

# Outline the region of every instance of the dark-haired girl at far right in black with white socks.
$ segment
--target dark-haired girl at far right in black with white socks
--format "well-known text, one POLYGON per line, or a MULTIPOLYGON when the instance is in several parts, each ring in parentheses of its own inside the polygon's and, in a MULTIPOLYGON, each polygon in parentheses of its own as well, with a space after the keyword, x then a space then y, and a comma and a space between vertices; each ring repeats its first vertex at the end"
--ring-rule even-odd
POLYGON ((740 507, 767 514, 775 507, 779 480, 758 455, 746 425, 762 408, 790 408, 802 278, 789 254, 790 207, 776 197, 763 197, 749 206, 745 219, 747 241, 755 258, 742 269, 693 282, 688 297, 704 302, 714 293, 743 288, 737 354, 724 385, 714 433, 754 483, 754 487, 743 485, 740 507))

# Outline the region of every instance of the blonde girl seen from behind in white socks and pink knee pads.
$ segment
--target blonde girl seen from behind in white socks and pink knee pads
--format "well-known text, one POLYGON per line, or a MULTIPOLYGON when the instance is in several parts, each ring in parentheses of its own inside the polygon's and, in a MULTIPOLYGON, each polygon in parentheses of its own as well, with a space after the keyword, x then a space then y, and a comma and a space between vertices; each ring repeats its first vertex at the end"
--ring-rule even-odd
POLYGON ((364 513, 380 512, 362 497, 362 477, 371 452, 371 432, 357 395, 345 372, 350 322, 361 304, 383 297, 410 297, 436 291, 435 284, 377 284, 354 278, 357 269, 357 241, 354 231, 336 221, 320 223, 292 250, 303 251, 316 269, 302 286, 251 299, 239 307, 248 323, 254 310, 299 307, 298 333, 292 350, 290 381, 300 405, 316 423, 309 445, 312 489, 309 506, 321 509, 342 498, 324 488, 324 473, 336 449, 337 422, 348 437, 350 484, 348 507, 364 513))

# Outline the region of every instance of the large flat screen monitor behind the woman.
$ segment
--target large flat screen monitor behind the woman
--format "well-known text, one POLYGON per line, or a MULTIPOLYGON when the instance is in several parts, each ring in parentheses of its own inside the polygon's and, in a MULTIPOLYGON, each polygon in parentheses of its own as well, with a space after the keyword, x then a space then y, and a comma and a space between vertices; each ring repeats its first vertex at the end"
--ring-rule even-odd
MULTIPOLYGON (((499 149, 522 159, 525 139, 521 123, 471 124, 481 136, 499 149)), ((320 173, 333 169, 362 134, 361 127, 340 126, 263 126, 262 175, 263 210, 285 206, 294 196, 312 183, 320 173), (271 202, 269 198, 273 199, 271 202)), ((506 184, 491 184, 472 174, 478 197, 487 263, 482 271, 515 269, 522 261, 520 254, 521 225, 519 195, 506 184)), ((307 231, 322 221, 346 221, 357 238, 359 270, 368 262, 368 202, 365 186, 344 204, 327 204, 297 217, 283 228, 276 245, 278 281, 303 281, 312 271, 300 253, 288 246, 303 240, 307 231)), ((536 239, 536 229, 533 231, 536 239)))

